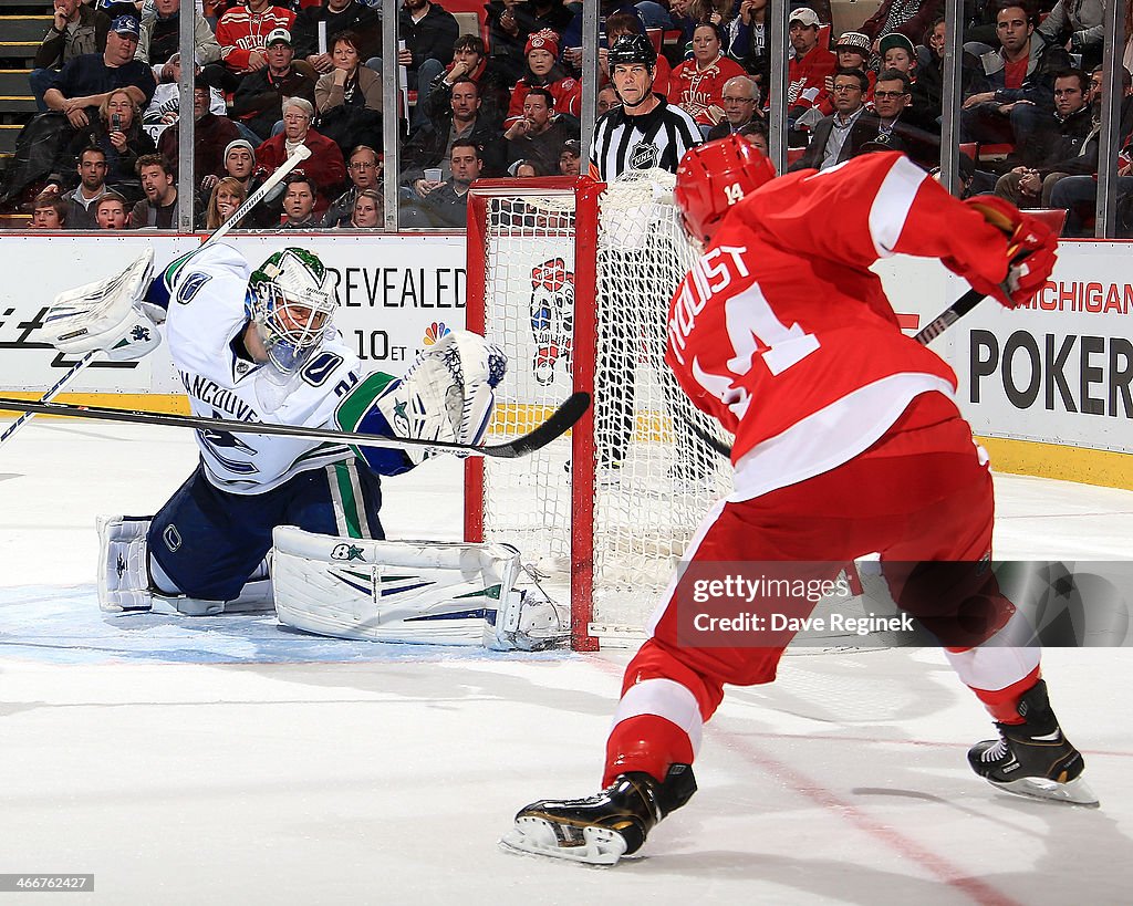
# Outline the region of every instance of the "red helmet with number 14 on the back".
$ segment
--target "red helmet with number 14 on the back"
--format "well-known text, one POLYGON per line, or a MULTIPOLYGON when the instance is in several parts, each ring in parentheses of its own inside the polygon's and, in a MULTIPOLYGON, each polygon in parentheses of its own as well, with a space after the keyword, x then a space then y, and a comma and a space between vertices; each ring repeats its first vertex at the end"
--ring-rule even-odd
POLYGON ((740 136, 691 148, 681 159, 673 189, 685 231, 707 245, 732 205, 774 178, 772 162, 740 136))

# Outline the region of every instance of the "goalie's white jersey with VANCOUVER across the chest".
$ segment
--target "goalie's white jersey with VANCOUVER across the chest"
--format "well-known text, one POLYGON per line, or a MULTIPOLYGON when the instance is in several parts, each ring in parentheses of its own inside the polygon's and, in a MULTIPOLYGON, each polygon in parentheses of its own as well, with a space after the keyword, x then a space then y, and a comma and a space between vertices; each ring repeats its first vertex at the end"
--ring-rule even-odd
MULTIPOLYGON (((359 361, 332 331, 296 375, 237 353, 248 313, 252 268, 223 243, 202 248, 165 271, 169 351, 194 414, 249 422, 333 427, 343 395, 358 383, 359 361), (280 382, 286 381, 286 384, 280 382)), ((293 475, 350 459, 342 444, 198 430, 197 446, 208 480, 233 494, 259 494, 293 475)))

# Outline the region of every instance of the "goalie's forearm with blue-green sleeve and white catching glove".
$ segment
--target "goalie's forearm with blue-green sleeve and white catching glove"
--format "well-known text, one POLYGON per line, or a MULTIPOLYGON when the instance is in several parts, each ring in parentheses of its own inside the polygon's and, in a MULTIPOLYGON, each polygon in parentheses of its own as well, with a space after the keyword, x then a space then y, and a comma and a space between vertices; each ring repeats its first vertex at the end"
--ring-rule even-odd
MULTIPOLYGON (((445 334, 423 352, 400 378, 374 374, 339 403, 334 421, 344 431, 385 437, 476 445, 484 439, 495 409, 495 388, 508 360, 497 347, 469 331, 445 334)), ((384 475, 391 454, 419 464, 428 451, 355 447, 372 469, 384 475)))

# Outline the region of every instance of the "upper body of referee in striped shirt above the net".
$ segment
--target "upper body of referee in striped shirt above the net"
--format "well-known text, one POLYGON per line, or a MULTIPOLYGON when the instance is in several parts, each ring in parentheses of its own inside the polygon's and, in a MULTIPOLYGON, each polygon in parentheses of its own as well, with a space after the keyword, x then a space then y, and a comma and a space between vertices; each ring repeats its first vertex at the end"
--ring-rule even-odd
POLYGON ((657 51, 645 35, 622 35, 610 49, 610 77, 622 105, 595 128, 590 176, 610 182, 627 170, 659 168, 670 173, 684 152, 700 144, 696 120, 653 92, 657 51))

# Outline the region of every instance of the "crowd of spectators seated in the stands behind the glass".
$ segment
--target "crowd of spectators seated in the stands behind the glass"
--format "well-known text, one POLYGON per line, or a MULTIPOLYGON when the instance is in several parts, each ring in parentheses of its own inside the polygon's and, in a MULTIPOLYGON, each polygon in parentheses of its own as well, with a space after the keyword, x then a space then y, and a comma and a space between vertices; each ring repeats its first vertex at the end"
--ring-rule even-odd
MULTIPOLYGON (((397 62, 411 104, 383 92, 381 3, 275 2, 195 3, 190 71, 177 52, 181 0, 56 0, 29 76, 43 113, 24 128, 0 199, 31 213, 28 229, 176 229, 179 84, 191 77, 197 228, 220 225, 305 145, 309 159, 240 226, 381 229, 383 118, 397 97, 399 222, 460 229, 477 178, 578 174, 582 121, 620 105, 607 49, 648 29, 668 39, 655 93, 704 140, 734 133, 767 146, 768 0, 602 0, 596 111, 582 109, 579 2, 489 0, 480 32, 461 34, 444 0, 402 0, 397 62)), ((884 0, 842 34, 829 2, 791 7, 790 169, 876 149, 938 168, 943 0, 884 0)), ((1065 207, 1066 234, 1090 229, 1109 89, 1101 15, 1097 0, 965 6, 966 193, 1065 207), (998 160, 979 153, 989 146, 998 160)), ((1131 61, 1126 49, 1119 220, 1133 206, 1131 61)))

